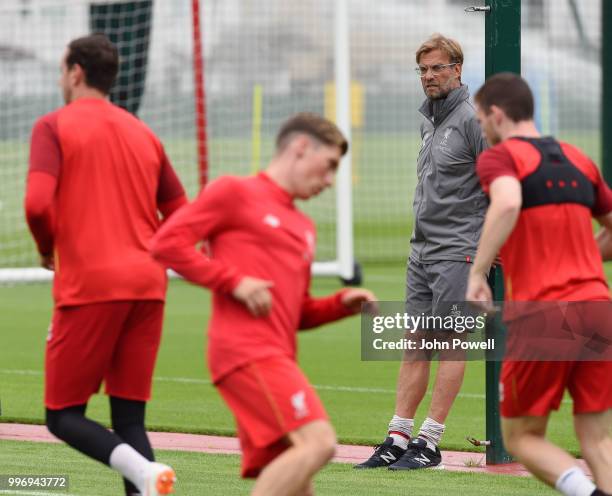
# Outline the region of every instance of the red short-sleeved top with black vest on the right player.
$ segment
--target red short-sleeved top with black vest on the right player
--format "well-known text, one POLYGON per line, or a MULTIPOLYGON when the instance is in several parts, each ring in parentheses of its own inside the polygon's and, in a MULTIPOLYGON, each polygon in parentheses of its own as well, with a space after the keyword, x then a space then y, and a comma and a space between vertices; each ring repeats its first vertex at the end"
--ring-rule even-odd
POLYGON ((591 217, 612 211, 612 192, 578 148, 552 138, 512 138, 484 151, 482 187, 521 181, 522 211, 501 249, 508 301, 609 298, 591 217))

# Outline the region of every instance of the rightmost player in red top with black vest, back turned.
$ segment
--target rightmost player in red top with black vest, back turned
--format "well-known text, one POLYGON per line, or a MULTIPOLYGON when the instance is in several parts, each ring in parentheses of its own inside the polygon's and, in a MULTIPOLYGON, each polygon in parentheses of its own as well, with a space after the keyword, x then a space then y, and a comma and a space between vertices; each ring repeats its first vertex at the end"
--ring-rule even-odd
MULTIPOLYGON (((612 313, 602 255, 612 254, 612 192, 580 150, 540 136, 533 122, 533 96, 519 76, 491 77, 475 101, 481 126, 495 146, 477 163, 491 204, 466 298, 491 301, 486 274, 501 249, 507 299, 601 300, 609 317, 597 322, 597 330, 610 337, 612 313), (603 226, 597 240, 592 217, 603 226)), ((541 323, 535 332, 542 330, 541 323)), ((534 475, 562 494, 612 494, 611 377, 609 361, 503 364, 504 443, 534 475), (597 488, 569 453, 544 437, 550 411, 558 409, 566 388, 573 398, 582 455, 597 488)))

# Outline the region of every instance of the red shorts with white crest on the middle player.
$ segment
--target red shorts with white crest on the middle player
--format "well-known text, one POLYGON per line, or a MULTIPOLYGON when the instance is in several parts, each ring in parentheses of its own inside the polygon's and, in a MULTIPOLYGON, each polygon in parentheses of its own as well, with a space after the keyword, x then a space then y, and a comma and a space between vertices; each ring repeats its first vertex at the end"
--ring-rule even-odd
POLYGON ((287 449, 288 433, 328 420, 306 376, 284 356, 251 362, 225 376, 217 387, 236 418, 242 477, 257 477, 287 449))

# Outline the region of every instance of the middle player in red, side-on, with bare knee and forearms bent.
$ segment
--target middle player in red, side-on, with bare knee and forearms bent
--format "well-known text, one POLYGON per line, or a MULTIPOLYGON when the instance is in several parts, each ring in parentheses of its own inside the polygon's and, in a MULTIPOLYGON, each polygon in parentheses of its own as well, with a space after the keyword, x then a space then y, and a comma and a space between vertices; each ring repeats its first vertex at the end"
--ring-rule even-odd
POLYGON ((312 494, 334 430, 296 363, 296 330, 358 312, 374 296, 309 294, 315 227, 294 205, 332 184, 348 144, 331 122, 298 114, 277 136, 264 173, 222 177, 166 223, 157 260, 213 290, 208 364, 237 422, 242 475, 255 495, 312 494), (208 243, 208 256, 196 244, 208 243))

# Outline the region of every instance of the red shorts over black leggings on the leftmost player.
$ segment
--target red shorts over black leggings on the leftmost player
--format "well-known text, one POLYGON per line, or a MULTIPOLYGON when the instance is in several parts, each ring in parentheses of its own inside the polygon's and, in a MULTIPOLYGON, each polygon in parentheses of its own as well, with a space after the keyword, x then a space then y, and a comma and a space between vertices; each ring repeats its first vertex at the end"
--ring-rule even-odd
POLYGON ((147 401, 164 302, 112 301, 56 308, 47 336, 45 406, 82 405, 106 394, 147 401))

